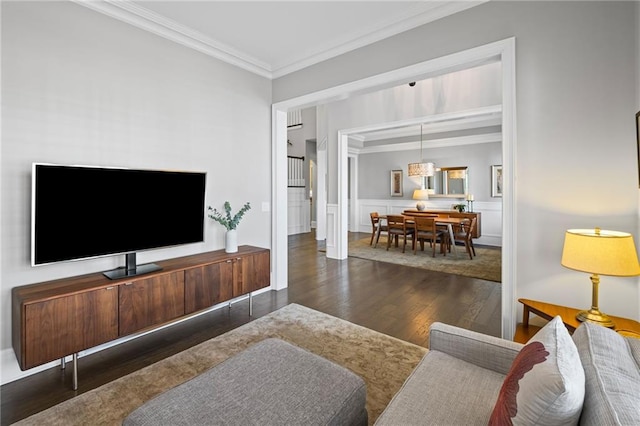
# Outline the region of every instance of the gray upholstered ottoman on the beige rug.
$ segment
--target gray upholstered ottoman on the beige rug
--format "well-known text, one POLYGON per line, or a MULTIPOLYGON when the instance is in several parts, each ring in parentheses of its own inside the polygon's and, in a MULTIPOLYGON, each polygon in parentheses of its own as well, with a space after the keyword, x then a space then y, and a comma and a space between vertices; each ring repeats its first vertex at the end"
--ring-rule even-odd
POLYGON ((366 425, 359 376, 280 339, 247 348, 134 410, 124 425, 366 425))

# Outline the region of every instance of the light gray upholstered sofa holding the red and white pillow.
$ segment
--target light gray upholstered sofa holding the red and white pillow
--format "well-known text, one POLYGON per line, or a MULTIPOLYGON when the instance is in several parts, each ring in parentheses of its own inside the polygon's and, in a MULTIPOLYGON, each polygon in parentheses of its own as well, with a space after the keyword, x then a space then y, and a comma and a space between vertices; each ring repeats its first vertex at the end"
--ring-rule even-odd
MULTIPOLYGON (((568 337, 568 332, 567 337, 563 337, 560 335, 564 329, 560 317, 553 322, 556 326, 560 324, 559 336, 552 336, 559 343, 558 364, 562 368, 569 367, 573 378, 563 377, 555 383, 559 386, 551 390, 557 393, 554 398, 571 394, 568 398, 573 400, 564 400, 559 406, 564 409, 573 404, 578 411, 549 420, 543 417, 547 414, 545 408, 540 409, 541 416, 536 418, 538 402, 518 399, 521 412, 534 408, 534 418, 520 423, 640 425, 640 339, 624 338, 592 324, 583 324, 572 337, 568 337), (565 347, 573 351, 571 353, 577 353, 579 358, 566 356, 565 347), (569 382, 574 382, 575 386, 571 388, 569 382), (558 390, 558 387, 562 389, 558 390)), ((550 324, 547 326, 551 327, 550 324)), ((441 323, 434 323, 430 330, 429 352, 376 425, 511 424, 510 421, 495 421, 492 413, 505 378, 525 345, 441 323)), ((553 386, 550 383, 553 381, 554 377, 546 376, 537 385, 553 386)), ((518 392, 524 393, 522 380, 520 385, 518 392)), ((536 393, 547 390, 538 388, 536 393)), ((520 398, 520 395, 516 397, 520 398)), ((513 424, 517 423, 513 421, 513 424)))

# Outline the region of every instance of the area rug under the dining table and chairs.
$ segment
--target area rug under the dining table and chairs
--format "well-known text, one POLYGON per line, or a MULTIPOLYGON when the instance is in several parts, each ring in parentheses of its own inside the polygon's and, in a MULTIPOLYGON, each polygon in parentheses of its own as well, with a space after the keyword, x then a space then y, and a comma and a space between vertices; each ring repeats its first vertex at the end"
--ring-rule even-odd
POLYGON ((464 247, 458 246, 458 257, 453 251, 442 256, 436 248, 436 257, 431 256, 428 244, 425 244, 425 251, 420 251, 414 255, 411 249, 411 242, 402 253, 402 240, 396 248, 393 244, 387 251, 384 236, 380 239, 377 247, 369 245, 369 238, 349 242, 349 256, 360 259, 377 260, 379 262, 396 263, 399 265, 412 266, 414 268, 428 269, 430 271, 447 272, 449 274, 464 275, 466 277, 480 278, 488 281, 502 281, 502 250, 500 248, 476 247, 476 256, 473 260, 464 247))

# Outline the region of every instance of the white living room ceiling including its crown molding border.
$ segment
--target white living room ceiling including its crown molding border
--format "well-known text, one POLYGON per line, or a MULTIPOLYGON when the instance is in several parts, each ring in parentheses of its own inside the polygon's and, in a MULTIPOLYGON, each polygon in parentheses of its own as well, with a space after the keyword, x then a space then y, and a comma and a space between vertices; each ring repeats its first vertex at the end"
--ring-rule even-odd
POLYGON ((486 0, 74 1, 277 78, 486 0))

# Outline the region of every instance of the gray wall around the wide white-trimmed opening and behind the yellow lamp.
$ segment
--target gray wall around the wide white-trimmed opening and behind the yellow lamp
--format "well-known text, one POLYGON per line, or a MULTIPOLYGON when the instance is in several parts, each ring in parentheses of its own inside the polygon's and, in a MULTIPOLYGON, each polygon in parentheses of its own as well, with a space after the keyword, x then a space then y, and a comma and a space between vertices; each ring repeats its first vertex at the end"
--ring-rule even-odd
MULTIPOLYGON (((275 101, 515 37, 516 296, 591 303, 560 265, 568 228, 638 231, 636 2, 488 2, 274 81, 275 101)), ((340 127, 330 126, 334 133, 340 127)), ((329 146, 335 173, 336 148, 329 146), (331 154, 333 149, 334 154, 331 154)), ((329 199, 337 199, 335 176, 329 199)), ((636 242, 638 238, 636 237, 636 242)), ((603 277, 600 307, 640 317, 636 278, 603 277)), ((516 301, 514 300, 515 304, 516 301)))

